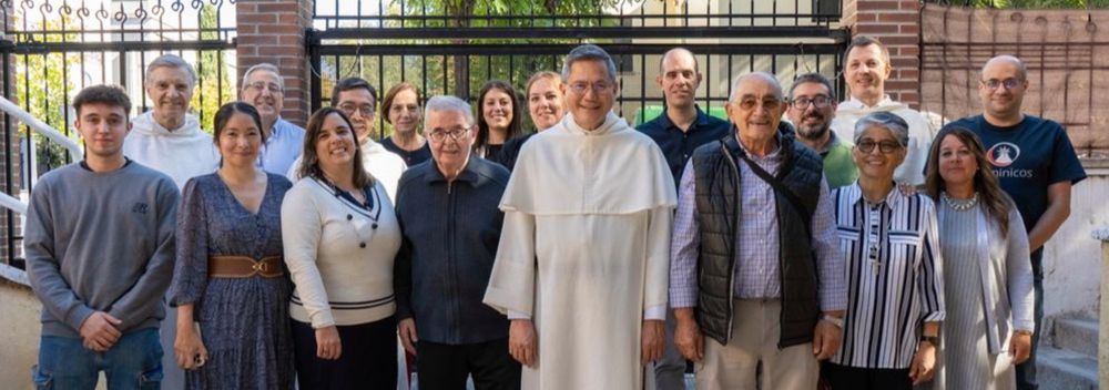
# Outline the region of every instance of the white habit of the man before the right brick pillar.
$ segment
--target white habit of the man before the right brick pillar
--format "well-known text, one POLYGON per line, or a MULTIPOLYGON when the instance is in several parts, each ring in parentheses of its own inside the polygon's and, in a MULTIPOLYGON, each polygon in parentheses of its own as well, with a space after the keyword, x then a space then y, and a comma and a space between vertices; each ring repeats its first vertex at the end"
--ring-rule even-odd
POLYGON ((934 127, 918 111, 891 100, 888 95, 883 96, 882 101, 873 107, 866 106, 852 96, 840 103, 836 109, 835 119, 832 120, 832 131, 841 140, 854 142, 855 123, 863 116, 879 111, 896 114, 908 123, 908 145, 906 147, 908 153, 905 155, 905 162, 894 171, 894 179, 897 183, 924 184, 924 168, 928 164, 928 148, 939 130, 934 127))

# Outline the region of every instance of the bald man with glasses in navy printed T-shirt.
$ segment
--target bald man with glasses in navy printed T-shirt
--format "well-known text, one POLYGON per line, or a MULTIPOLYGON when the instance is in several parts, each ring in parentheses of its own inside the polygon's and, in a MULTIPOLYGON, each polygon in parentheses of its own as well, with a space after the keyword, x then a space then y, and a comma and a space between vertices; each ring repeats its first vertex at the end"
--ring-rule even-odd
POLYGON ((1013 197, 1028 230, 1036 331, 1031 356, 1017 365, 1017 388, 1037 389, 1036 345, 1044 319, 1044 244, 1070 215, 1071 186, 1086 178, 1081 162, 1059 123, 1020 111, 1028 91, 1028 68, 1013 55, 998 55, 981 68, 978 96, 983 113, 947 126, 970 129, 986 147, 986 157, 1001 189, 1013 197))

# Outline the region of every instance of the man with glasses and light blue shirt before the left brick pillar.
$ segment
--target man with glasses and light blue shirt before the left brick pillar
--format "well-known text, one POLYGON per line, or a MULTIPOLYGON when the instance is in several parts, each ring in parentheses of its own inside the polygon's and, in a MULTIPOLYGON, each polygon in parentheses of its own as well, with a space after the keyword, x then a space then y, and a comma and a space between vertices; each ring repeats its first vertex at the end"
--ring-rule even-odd
POLYGON ((243 73, 238 100, 253 105, 262 116, 262 132, 266 140, 258 156, 262 168, 284 175, 301 156, 304 129, 281 117, 281 110, 285 106, 285 82, 277 66, 263 62, 247 69, 243 73))

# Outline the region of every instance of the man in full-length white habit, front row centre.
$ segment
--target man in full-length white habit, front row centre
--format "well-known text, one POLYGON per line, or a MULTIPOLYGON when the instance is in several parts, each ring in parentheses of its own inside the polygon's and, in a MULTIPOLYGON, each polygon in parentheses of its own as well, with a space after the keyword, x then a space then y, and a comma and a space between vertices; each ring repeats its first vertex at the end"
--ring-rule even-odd
POLYGON ((511 320, 522 389, 654 388, 676 191, 662 152, 612 113, 604 50, 562 64, 568 115, 523 145, 485 302, 511 320))

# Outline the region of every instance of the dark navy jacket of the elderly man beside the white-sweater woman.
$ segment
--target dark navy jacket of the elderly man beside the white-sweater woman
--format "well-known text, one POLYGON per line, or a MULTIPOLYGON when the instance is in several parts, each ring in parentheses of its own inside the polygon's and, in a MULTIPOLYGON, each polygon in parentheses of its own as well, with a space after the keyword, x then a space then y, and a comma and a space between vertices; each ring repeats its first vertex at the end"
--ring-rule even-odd
POLYGON ((435 160, 397 185, 404 234, 394 266, 397 318, 415 318, 420 340, 446 345, 508 337, 508 320, 481 302, 505 215, 498 208, 509 173, 470 155, 454 183, 435 160))

